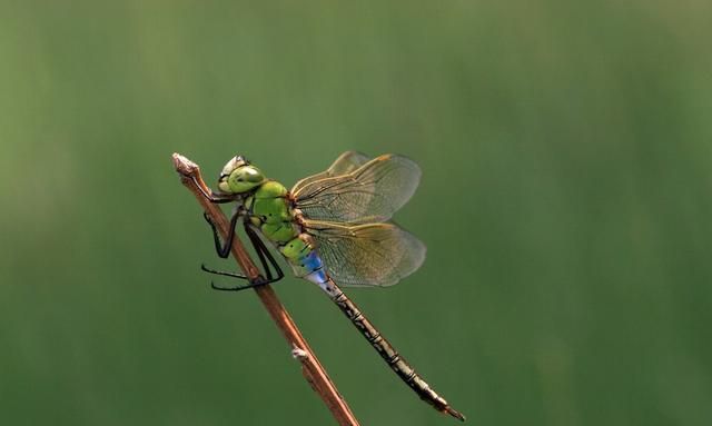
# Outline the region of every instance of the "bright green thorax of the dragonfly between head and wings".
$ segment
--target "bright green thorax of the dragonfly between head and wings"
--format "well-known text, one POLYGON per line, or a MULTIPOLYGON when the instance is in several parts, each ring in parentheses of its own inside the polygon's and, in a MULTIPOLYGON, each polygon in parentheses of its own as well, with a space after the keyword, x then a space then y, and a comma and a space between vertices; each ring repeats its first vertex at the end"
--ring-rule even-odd
POLYGON ((245 200, 245 207, 253 225, 270 241, 281 246, 299 235, 284 185, 265 181, 245 200))

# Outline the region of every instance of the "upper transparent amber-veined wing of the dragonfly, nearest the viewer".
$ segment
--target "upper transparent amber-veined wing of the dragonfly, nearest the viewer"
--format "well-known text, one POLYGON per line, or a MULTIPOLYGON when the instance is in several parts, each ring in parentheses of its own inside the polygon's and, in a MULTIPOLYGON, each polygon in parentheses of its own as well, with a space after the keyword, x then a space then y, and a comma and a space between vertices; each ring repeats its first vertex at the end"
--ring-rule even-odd
POLYGON ((379 222, 411 199, 419 181, 418 165, 402 156, 383 155, 346 175, 298 185, 291 196, 307 219, 379 222))

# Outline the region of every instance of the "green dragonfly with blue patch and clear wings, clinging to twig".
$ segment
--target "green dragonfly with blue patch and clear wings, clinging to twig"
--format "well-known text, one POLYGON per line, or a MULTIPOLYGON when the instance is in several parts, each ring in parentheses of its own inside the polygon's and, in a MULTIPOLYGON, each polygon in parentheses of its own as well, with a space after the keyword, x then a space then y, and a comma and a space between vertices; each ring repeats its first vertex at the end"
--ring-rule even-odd
POLYGON ((465 416, 433 390, 339 287, 392 286, 423 265, 425 245, 392 220, 415 192, 421 175, 417 164, 404 156, 388 153, 370 158, 347 151, 327 170, 304 178, 287 190, 278 181, 266 178, 245 157, 236 156, 222 168, 218 189, 204 194, 211 202, 235 205, 231 231, 225 241, 209 216, 205 218, 212 228, 215 249, 221 258, 228 257, 236 227, 241 221, 264 274, 249 279, 205 265, 201 268, 248 280, 235 287, 211 283, 217 290, 239 291, 276 283, 285 275, 267 247, 271 246, 296 277, 316 284, 326 293, 423 400, 464 422, 465 416))

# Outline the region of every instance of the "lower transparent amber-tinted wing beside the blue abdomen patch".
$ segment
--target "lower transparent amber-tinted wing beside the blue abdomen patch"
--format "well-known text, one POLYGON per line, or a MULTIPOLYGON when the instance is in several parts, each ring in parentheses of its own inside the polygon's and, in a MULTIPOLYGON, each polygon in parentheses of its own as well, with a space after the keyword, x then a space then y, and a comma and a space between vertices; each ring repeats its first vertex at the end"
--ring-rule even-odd
POLYGON ((392 286, 425 260, 425 245, 393 222, 349 226, 306 220, 305 228, 338 285, 392 286))

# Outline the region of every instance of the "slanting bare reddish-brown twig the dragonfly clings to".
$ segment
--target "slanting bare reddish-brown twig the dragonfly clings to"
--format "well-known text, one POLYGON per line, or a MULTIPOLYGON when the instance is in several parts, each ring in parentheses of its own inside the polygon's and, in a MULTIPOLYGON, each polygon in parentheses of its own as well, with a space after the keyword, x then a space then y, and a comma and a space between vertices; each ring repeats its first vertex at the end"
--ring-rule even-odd
MULTIPOLYGON (((205 185, 205 181, 202 181, 198 165, 179 153, 174 153, 172 158, 174 166, 176 167, 176 171, 180 175, 182 185, 185 185, 196 196, 198 202, 210 216, 210 219, 212 219, 212 222, 216 225, 222 238, 227 238, 228 232, 231 231, 229 221, 225 217, 222 210, 204 196, 204 194, 211 192, 210 188, 208 188, 208 186, 205 185)), ((259 269, 255 266, 237 237, 235 237, 233 241, 231 252, 240 269, 248 278, 254 279, 259 276, 259 269)), ((269 316, 277 325, 277 328, 279 328, 287 340, 287 344, 293 349, 293 356, 301 363, 301 374, 307 379, 314 392, 316 392, 322 400, 324 400, 334 415, 334 418, 336 418, 339 425, 358 425, 358 420, 352 413, 348 404, 346 404, 344 397, 338 393, 336 386, 334 386, 334 383, 326 374, 326 370, 317 359, 316 355, 314 355, 314 351, 301 336, 301 333, 297 328, 296 324, 294 324, 289 313, 287 313, 285 307, 281 305, 271 287, 269 285, 264 285, 254 287, 254 289, 255 293, 257 293, 259 300, 265 306, 265 309, 267 309, 269 316)))

